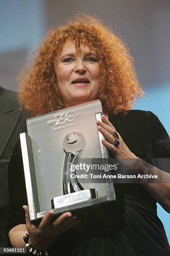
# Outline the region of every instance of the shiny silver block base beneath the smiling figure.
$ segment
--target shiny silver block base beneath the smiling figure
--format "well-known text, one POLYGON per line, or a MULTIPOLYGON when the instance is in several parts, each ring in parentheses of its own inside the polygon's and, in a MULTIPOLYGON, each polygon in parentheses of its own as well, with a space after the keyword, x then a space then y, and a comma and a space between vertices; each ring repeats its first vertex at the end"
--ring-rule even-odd
POLYGON ((67 195, 54 197, 51 199, 52 209, 65 207, 67 205, 73 205, 81 202, 87 202, 98 197, 96 189, 84 189, 79 192, 73 192, 67 195))

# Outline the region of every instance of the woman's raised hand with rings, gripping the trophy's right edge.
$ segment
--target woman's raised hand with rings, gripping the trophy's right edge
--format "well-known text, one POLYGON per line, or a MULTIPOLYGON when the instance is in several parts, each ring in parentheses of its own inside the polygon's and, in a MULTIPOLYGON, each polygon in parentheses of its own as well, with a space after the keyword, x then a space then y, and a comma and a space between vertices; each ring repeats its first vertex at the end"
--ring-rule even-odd
POLYGON ((122 140, 120 134, 115 130, 115 127, 110 123, 110 121, 102 115, 102 122, 97 120, 98 130, 105 137, 105 140, 102 140, 103 145, 111 152, 112 156, 115 158, 137 158, 130 149, 126 146, 125 142, 122 140), (115 138, 113 136, 113 131, 116 131, 118 135, 118 140, 120 144, 116 147, 113 145, 115 138))

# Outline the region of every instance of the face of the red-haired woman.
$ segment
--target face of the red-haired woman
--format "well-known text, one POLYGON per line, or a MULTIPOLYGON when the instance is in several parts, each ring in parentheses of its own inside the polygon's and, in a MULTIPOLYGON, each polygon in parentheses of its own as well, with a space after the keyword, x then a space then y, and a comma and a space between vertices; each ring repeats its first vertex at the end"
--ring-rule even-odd
POLYGON ((96 100, 100 87, 97 54, 88 46, 80 45, 76 55, 75 42, 66 41, 55 63, 58 88, 66 107, 96 100))

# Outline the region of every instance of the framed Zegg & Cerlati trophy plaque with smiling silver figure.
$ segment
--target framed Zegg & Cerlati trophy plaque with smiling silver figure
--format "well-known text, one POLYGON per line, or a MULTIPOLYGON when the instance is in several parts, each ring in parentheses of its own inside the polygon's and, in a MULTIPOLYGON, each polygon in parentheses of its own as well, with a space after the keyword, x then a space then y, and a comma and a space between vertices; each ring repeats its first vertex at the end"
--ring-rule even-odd
POLYGON ((96 124, 101 115, 95 100, 27 119, 20 141, 31 221, 50 209, 57 216, 116 200, 112 183, 82 184, 70 171, 80 159, 108 159, 96 124))

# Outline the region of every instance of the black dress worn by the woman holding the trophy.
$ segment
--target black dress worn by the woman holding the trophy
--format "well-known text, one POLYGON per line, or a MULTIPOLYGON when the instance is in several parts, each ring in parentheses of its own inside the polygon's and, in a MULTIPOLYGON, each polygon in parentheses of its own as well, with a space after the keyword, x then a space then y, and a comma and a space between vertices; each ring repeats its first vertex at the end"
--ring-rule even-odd
MULTIPOLYGON (((170 138, 156 115, 141 110, 109 116, 110 122, 136 156, 152 162, 170 158, 170 138)), ((22 205, 27 204, 20 143, 15 146, 9 169, 10 215, 8 231, 25 223, 22 205)), ((48 248, 56 256, 168 256, 170 246, 153 197, 142 184, 120 184, 125 200, 125 225, 114 237, 80 239, 90 226, 83 223, 57 238, 48 248)), ((98 223, 100 225, 100 223, 98 223)), ((107 230, 103 230, 107 233, 107 230)))

